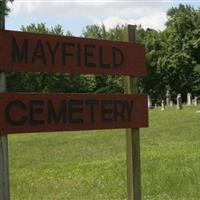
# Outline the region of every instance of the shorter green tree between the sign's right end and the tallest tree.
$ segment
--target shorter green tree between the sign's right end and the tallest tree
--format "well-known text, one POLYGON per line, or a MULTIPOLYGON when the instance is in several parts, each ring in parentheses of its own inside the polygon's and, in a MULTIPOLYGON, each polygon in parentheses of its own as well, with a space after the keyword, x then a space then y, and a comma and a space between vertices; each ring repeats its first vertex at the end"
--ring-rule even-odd
POLYGON ((143 92, 150 94, 153 102, 160 101, 165 96, 166 79, 159 68, 159 60, 165 54, 165 43, 161 32, 153 29, 137 31, 138 38, 145 44, 147 77, 142 79, 143 92))

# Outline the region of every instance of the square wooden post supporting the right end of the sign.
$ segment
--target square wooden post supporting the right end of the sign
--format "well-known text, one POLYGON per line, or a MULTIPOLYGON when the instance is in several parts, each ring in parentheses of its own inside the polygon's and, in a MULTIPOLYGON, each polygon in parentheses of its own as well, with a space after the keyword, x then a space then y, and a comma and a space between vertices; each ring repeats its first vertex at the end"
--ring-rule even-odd
MULTIPOLYGON (((126 28, 126 41, 135 43, 136 26, 128 25, 126 28)), ((131 52, 130 52, 131 53, 131 52)), ((134 60, 133 60, 134 62, 134 60)), ((124 79, 125 93, 137 94, 137 78, 126 76, 124 79)), ((126 129, 127 145, 127 184, 128 200, 141 199, 140 175, 140 130, 139 128, 126 129)))

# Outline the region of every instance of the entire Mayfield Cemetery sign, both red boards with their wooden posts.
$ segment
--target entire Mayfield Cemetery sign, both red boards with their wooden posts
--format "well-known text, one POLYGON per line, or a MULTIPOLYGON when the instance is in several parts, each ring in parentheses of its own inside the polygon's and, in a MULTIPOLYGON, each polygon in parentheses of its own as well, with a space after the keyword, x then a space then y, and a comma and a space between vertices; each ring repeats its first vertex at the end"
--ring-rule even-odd
POLYGON ((144 45, 134 38, 134 26, 126 42, 0 31, 1 72, 128 75, 126 94, 39 94, 6 93, 1 73, 2 200, 9 199, 6 134, 113 128, 128 128, 128 200, 141 199, 139 127, 148 127, 147 96, 137 94, 137 79, 130 76, 145 76, 147 69, 144 45))

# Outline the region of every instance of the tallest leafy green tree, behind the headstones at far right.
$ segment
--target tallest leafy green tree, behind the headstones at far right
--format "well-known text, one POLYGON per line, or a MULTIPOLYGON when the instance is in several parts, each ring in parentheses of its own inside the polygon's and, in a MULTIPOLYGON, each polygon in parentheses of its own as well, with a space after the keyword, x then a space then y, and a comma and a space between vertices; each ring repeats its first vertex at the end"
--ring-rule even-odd
MULTIPOLYGON (((176 93, 198 93, 200 10, 179 5, 167 12, 164 39, 167 44, 159 67, 167 79, 167 86, 176 93)), ((186 95, 185 95, 186 96, 186 95)))

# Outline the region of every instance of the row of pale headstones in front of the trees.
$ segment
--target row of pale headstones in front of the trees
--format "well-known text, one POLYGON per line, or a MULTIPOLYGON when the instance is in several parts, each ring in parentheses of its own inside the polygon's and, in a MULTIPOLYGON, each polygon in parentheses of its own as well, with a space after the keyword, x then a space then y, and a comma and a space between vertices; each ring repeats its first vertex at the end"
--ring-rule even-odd
MULTIPOLYGON (((197 100, 198 100, 197 96, 194 96, 194 99, 192 99, 192 94, 191 93, 187 93, 187 105, 188 106, 190 106, 190 105, 197 106, 197 104, 198 104, 197 100)), ((173 104, 174 103, 173 103, 173 101, 171 99, 171 94, 167 90, 166 100, 165 101, 164 100, 161 101, 161 110, 165 109, 165 105, 172 107, 173 104), (166 104, 165 104, 165 102, 166 102, 166 104)), ((155 104, 154 107, 152 106, 151 98, 150 98, 150 96, 148 96, 148 108, 156 108, 156 107, 157 107, 157 104, 155 104)), ((183 108, 181 94, 177 94, 177 97, 176 97, 176 108, 177 108, 177 110, 181 110, 183 108)))

